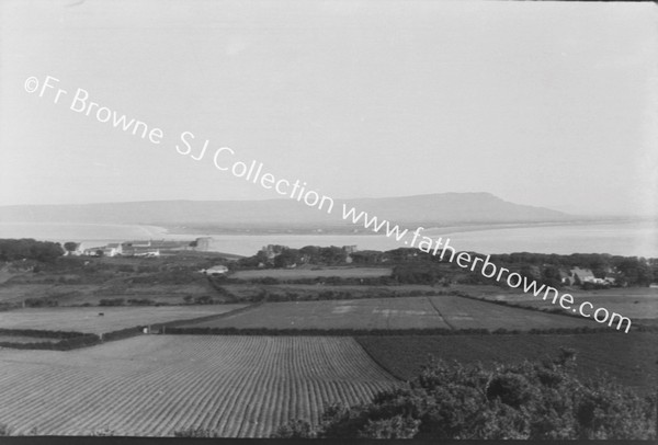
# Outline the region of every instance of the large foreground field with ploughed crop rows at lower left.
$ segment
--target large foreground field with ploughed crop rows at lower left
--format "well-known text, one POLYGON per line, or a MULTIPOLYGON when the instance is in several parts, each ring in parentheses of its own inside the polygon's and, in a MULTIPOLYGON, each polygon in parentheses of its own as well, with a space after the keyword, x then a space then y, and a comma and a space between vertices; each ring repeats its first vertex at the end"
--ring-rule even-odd
POLYGON ((144 335, 67 353, 0 349, 0 423, 39 435, 266 437, 396 385, 351 338, 144 335))

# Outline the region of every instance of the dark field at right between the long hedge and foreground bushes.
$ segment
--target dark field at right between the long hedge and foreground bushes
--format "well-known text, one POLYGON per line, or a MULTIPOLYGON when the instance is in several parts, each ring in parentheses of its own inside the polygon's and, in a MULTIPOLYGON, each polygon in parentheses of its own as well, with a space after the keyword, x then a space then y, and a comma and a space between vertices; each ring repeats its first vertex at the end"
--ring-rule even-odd
POLYGON ((515 363, 556 357, 559 347, 577 353, 577 372, 597 378, 614 376, 639 392, 653 393, 658 385, 658 333, 597 333, 576 335, 431 335, 359 336, 359 343, 392 374, 411 379, 429 354, 446 361, 483 364, 515 363))

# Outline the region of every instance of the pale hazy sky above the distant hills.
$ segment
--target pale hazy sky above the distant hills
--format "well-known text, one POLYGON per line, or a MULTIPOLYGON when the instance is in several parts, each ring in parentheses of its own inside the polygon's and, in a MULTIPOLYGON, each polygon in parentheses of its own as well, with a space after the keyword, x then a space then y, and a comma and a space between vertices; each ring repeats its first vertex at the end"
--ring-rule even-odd
POLYGON ((656 212, 653 3, 0 1, 0 205, 276 198, 192 132, 332 197, 490 192, 656 212), (27 93, 29 77, 67 90, 27 93), (159 127, 160 145, 69 109, 159 127))

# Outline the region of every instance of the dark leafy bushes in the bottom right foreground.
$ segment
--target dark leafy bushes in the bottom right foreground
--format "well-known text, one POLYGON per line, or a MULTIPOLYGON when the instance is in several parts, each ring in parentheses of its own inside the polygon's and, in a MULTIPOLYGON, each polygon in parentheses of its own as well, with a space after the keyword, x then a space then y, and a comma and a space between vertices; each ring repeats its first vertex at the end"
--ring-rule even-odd
POLYGON ((318 425, 292 421, 281 438, 650 440, 656 396, 610 379, 580 380, 572 351, 486 369, 432 362, 372 402, 329 407, 318 425))

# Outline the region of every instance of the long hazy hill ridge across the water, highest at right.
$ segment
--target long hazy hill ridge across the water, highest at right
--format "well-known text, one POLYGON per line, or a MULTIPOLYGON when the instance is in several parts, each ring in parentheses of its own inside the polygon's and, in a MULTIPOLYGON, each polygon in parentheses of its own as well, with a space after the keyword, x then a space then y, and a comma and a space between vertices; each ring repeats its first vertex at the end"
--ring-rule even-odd
POLYGON ((0 222, 143 224, 215 227, 331 227, 345 225, 342 206, 400 224, 564 221, 569 215, 506 202, 490 193, 336 199, 331 215, 292 199, 154 201, 0 207, 0 222))

